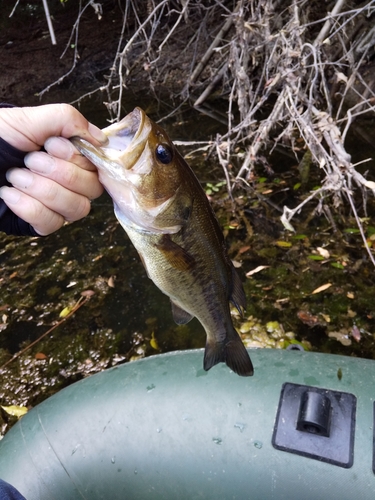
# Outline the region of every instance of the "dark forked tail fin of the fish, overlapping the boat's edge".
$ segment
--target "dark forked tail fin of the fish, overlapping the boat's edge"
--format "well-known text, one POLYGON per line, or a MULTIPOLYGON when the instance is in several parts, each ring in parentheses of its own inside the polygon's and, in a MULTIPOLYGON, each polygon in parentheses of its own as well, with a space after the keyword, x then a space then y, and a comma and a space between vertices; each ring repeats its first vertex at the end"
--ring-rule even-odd
POLYGON ((206 343, 204 351, 203 368, 208 371, 218 363, 226 365, 241 377, 250 377, 254 374, 254 367, 250 356, 243 345, 238 333, 224 342, 206 343))

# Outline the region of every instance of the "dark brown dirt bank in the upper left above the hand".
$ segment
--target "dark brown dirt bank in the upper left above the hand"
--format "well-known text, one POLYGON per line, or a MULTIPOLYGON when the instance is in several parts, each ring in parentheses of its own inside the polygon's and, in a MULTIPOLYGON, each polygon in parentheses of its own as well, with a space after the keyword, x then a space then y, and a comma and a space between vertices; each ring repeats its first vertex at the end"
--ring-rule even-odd
POLYGON ((57 44, 52 45, 41 2, 2 7, 0 21, 0 100, 16 105, 69 102, 103 84, 116 53, 121 33, 122 13, 118 2, 104 1, 102 18, 92 7, 83 13, 79 25, 75 70, 60 85, 39 97, 48 85, 67 73, 74 62, 75 34, 79 2, 49 2, 57 44), (65 54, 63 52, 66 50, 65 54))

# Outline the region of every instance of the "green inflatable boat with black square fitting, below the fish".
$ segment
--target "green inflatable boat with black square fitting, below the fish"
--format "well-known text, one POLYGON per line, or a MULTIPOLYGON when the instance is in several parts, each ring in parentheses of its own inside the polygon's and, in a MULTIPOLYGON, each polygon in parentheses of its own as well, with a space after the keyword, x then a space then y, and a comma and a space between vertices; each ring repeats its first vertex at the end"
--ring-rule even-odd
POLYGON ((0 442, 28 500, 375 498, 375 361, 251 352, 255 374, 201 350, 77 382, 0 442))

